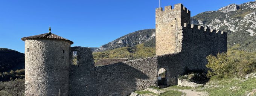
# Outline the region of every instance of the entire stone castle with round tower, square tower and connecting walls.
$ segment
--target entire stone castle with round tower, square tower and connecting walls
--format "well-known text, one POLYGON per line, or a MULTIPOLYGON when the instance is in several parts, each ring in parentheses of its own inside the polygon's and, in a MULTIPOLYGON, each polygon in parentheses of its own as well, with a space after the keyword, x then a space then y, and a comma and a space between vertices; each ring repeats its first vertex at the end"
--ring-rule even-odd
POLYGON ((70 47, 72 41, 51 32, 21 38, 25 96, 127 96, 150 86, 177 85, 178 75, 207 70, 207 55, 227 52, 227 33, 191 25, 182 4, 157 8, 155 14, 156 56, 107 66, 95 67, 90 48, 70 47))

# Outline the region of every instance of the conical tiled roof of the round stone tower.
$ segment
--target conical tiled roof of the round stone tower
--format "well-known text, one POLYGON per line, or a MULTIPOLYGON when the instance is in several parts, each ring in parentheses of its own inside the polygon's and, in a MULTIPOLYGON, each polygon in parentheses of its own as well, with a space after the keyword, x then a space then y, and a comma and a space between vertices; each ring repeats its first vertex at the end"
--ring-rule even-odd
POLYGON ((70 44, 73 44, 72 41, 70 41, 66 38, 62 38, 56 34, 52 34, 51 32, 46 33, 46 34, 40 34, 40 35, 21 38, 21 40, 23 40, 23 41, 25 41, 25 40, 42 40, 42 39, 44 39, 44 40, 60 40, 60 41, 66 41, 70 44))

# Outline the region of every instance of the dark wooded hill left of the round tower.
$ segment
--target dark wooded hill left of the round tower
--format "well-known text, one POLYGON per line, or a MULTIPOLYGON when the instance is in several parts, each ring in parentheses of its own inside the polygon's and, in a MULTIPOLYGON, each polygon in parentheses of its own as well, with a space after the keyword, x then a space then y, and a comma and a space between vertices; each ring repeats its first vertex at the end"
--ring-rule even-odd
POLYGON ((24 53, 15 50, 0 48, 0 72, 24 69, 24 53))

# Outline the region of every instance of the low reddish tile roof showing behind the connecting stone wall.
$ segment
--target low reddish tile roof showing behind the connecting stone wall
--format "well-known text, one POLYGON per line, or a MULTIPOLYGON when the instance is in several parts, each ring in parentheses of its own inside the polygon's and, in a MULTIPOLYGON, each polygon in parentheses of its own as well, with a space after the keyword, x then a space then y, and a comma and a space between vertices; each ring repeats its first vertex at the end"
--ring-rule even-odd
POLYGON ((95 63, 95 66, 105 66, 105 65, 109 65, 109 64, 124 62, 127 60, 128 60, 128 58, 100 59, 98 62, 95 63))

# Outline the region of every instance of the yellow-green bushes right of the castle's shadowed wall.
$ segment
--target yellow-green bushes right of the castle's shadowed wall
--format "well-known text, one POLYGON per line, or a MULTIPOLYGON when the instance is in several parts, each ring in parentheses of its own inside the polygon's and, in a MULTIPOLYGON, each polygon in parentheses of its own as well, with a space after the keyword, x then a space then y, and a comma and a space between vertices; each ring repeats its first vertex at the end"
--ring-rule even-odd
POLYGON ((244 77, 256 72, 256 52, 245 52, 236 49, 236 45, 228 53, 218 53, 217 56, 207 56, 207 76, 218 75, 221 78, 244 77))

